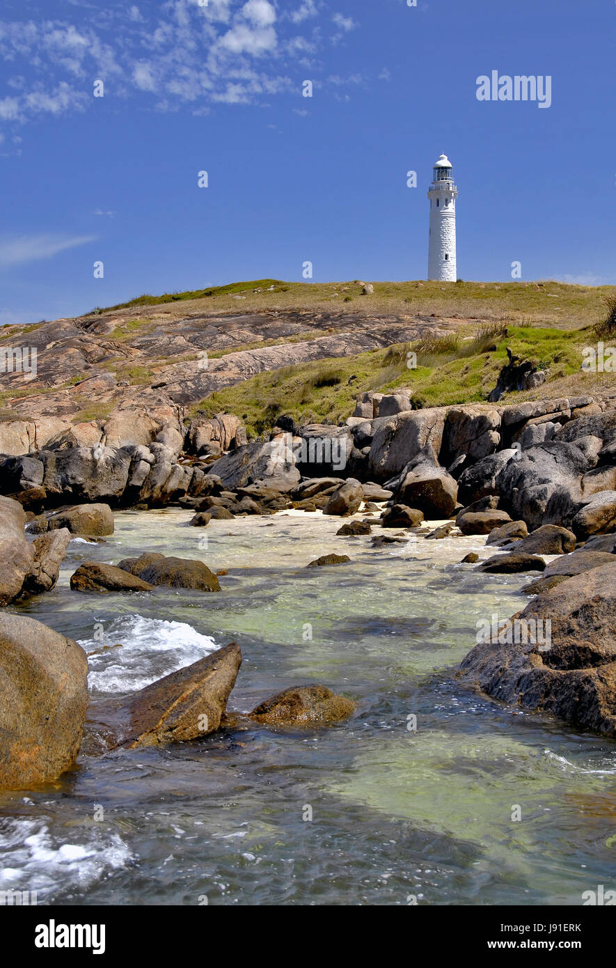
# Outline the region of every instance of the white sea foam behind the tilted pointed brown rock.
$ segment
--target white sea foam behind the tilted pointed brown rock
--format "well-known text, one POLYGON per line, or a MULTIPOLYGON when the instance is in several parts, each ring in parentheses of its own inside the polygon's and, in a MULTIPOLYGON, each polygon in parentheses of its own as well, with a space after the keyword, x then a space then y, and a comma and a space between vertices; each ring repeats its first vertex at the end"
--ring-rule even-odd
POLYGON ((89 683, 95 692, 142 689, 219 648, 211 636, 184 621, 125 615, 101 624, 99 638, 79 641, 88 653, 89 683), (118 644, 121 649, 103 649, 118 644))

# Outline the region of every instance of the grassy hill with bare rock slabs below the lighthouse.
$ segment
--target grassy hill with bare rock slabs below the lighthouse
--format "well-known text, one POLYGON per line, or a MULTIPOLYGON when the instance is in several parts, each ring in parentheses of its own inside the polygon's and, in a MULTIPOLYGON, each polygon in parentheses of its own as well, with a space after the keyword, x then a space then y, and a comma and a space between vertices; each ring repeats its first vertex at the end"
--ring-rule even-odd
MULTIPOLYGON (((485 401, 507 362, 507 348, 533 361, 546 381, 533 391, 508 394, 503 402, 616 389, 614 374, 580 371, 583 348, 616 339, 616 287, 549 281, 372 285, 373 292, 365 295, 358 280, 266 279, 142 295, 59 323, 71 330, 67 340, 85 332, 98 341, 103 353, 96 370, 129 388, 122 390, 123 399, 138 400, 142 388, 147 407, 147 394, 156 387, 161 387, 159 400, 165 386, 177 389, 178 381, 192 379, 187 415, 234 412, 257 434, 272 427, 280 413, 301 423, 344 421, 366 390, 404 387, 416 407, 485 401), (374 334, 377 339, 366 339, 374 334), (184 348, 177 348, 178 336, 184 348), (374 348, 358 352, 358 336, 365 348, 374 348), (193 378, 203 348, 217 364, 210 364, 208 373, 215 370, 219 378, 195 395, 193 378), (416 369, 407 366, 409 351, 417 354, 416 369), (228 378, 220 378, 221 370, 228 370, 228 378)), ((44 348, 48 329, 47 353, 58 358, 64 337, 58 339, 57 326, 12 326, 0 337, 0 348, 26 333, 34 340, 35 330, 44 348)), ((26 409, 41 414, 69 405, 65 411, 73 410, 70 418, 78 422, 103 418, 118 405, 116 391, 110 391, 75 411, 73 389, 78 395, 92 367, 76 374, 45 369, 41 348, 36 385, 3 386, 1 407, 12 410, 30 402, 26 409)), ((171 399, 178 398, 171 394, 171 399)))

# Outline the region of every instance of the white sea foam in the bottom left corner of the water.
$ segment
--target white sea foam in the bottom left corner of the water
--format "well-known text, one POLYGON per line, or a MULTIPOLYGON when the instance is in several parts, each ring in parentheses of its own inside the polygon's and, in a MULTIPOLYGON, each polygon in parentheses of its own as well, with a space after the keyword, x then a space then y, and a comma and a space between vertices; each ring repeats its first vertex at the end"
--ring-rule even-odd
POLYGON ((0 890, 36 891, 53 903, 58 889, 84 890, 125 867, 131 851, 117 833, 88 829, 89 843, 62 843, 41 820, 6 818, 0 826, 0 890))

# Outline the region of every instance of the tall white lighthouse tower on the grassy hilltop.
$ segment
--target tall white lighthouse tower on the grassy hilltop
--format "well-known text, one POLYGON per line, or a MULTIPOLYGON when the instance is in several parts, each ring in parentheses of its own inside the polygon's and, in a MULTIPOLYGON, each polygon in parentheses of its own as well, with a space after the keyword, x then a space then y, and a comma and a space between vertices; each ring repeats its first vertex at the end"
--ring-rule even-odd
POLYGON ((430 199, 430 238, 427 278, 455 283, 455 198, 452 163, 441 155, 434 166, 434 177, 427 197, 430 199))

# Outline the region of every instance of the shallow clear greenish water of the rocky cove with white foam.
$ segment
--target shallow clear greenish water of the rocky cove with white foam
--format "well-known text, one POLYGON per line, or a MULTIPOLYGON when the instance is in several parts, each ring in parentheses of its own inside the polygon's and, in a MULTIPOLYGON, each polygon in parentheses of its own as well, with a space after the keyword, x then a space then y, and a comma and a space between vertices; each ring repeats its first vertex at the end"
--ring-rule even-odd
POLYGON ((577 905, 614 885, 616 743, 455 680, 476 622, 523 607, 527 575, 460 566, 468 551, 490 554, 483 538, 373 549, 336 537, 339 520, 320 514, 206 530, 190 518, 117 514, 112 537, 73 540, 56 589, 15 611, 81 643, 93 697, 236 640, 230 710, 322 682, 355 699, 355 715, 321 730, 82 752, 62 780, 0 794, 0 890, 52 904, 577 905), (225 568, 222 591, 70 590, 80 561, 142 551, 225 568), (305 569, 328 552, 352 562, 305 569))

